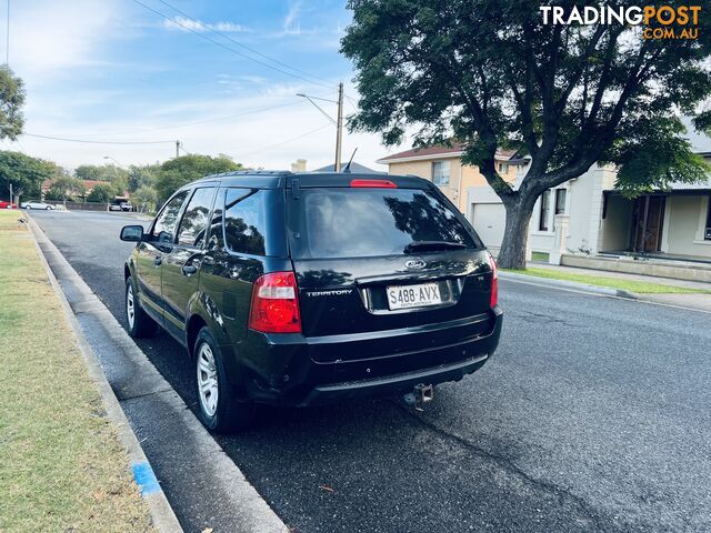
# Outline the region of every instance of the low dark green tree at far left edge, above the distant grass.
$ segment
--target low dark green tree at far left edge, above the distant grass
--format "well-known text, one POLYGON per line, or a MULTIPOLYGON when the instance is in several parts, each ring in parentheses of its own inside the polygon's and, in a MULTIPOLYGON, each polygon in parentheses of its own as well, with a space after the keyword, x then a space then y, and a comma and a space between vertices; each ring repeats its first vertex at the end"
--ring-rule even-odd
POLYGON ((9 187, 16 195, 40 198, 42 181, 54 175, 57 165, 20 152, 0 151, 0 194, 9 195, 9 187))

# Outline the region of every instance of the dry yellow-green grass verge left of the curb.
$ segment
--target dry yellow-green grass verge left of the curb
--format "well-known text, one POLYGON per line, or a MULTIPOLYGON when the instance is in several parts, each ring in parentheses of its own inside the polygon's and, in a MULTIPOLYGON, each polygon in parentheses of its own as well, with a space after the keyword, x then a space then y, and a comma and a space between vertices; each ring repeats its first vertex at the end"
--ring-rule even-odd
POLYGON ((18 211, 0 211, 0 531, 153 531, 18 211))

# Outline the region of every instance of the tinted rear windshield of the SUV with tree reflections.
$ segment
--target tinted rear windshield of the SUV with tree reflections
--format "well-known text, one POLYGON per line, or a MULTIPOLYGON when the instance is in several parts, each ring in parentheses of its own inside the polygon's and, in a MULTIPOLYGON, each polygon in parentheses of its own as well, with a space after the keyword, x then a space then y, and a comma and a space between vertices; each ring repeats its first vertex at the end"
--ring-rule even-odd
POLYGON ((292 233, 296 259, 399 255, 413 242, 478 248, 441 200, 419 189, 302 189, 292 233))

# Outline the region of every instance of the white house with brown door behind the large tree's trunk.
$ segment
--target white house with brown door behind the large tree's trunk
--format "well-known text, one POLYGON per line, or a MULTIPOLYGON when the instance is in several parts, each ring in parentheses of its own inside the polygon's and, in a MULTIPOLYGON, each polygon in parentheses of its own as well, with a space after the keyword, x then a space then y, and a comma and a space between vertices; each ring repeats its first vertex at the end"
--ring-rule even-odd
MULTIPOLYGON (((703 155, 711 160, 711 153, 703 155)), ((517 183, 527 171, 528 164, 517 167, 517 183)), ((675 183, 634 200, 623 198, 614 181, 613 168, 593 167, 545 191, 531 217, 530 251, 711 261, 711 177, 707 183, 675 183)), ((488 247, 499 248, 501 201, 488 185, 470 187, 467 198, 469 220, 488 247)))

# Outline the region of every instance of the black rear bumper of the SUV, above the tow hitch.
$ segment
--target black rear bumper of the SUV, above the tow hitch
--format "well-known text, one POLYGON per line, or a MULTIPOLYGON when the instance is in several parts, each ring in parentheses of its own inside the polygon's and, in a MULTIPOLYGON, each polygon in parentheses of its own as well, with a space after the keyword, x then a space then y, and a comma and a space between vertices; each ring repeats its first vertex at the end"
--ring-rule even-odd
MULTIPOLYGON (((479 321, 472 322, 470 334, 463 334, 461 321, 455 321, 451 326, 442 324, 435 332, 403 335, 401 345, 414 341, 407 344, 407 351, 373 354, 367 342, 361 345, 367 356, 330 362, 314 360, 314 354, 322 354, 326 346, 310 344, 301 335, 250 332, 243 345, 230 346, 236 352, 233 362, 239 374, 233 381, 259 403, 294 406, 403 393, 418 383, 459 381, 483 366, 497 350, 503 315, 499 308, 490 313, 485 331, 481 331, 479 321), (441 335, 448 331, 450 342, 442 343, 441 335), (438 342, 428 342, 432 339, 438 342)), ((342 345, 337 343, 332 349, 341 353, 342 345)))

